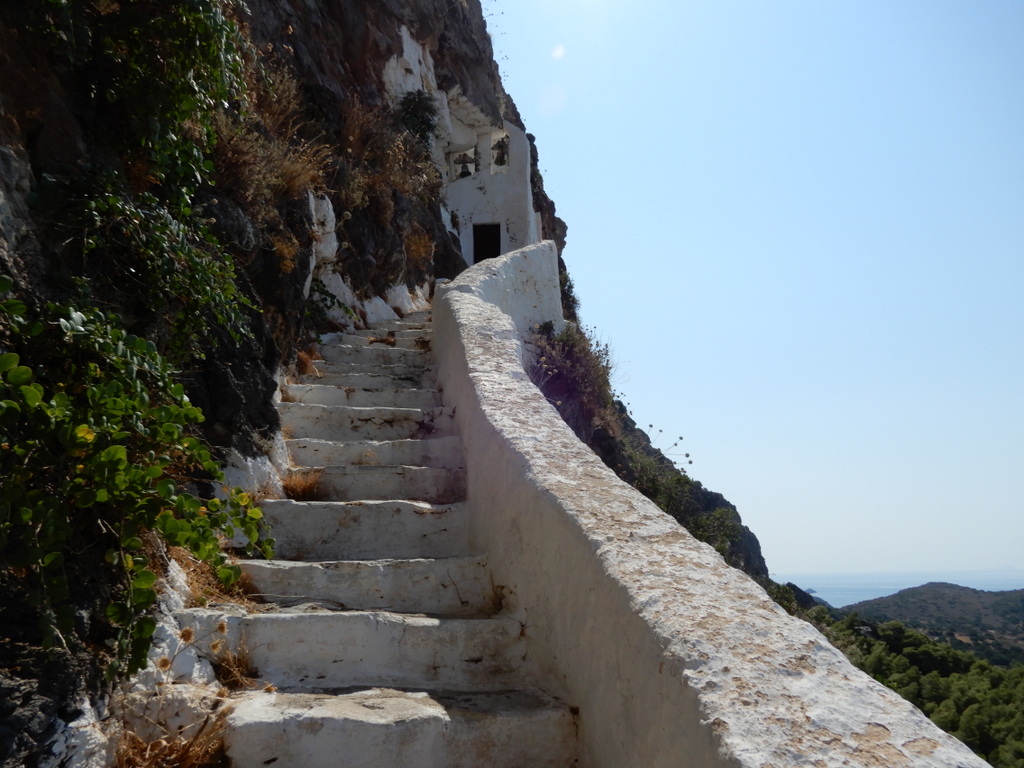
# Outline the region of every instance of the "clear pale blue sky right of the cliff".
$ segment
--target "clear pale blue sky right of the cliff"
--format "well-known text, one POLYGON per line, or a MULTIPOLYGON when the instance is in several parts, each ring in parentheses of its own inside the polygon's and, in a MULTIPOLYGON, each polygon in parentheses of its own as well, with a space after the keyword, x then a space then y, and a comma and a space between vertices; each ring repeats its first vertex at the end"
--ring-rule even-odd
POLYGON ((584 324, 769 568, 1024 568, 1024 2, 484 11, 584 324))

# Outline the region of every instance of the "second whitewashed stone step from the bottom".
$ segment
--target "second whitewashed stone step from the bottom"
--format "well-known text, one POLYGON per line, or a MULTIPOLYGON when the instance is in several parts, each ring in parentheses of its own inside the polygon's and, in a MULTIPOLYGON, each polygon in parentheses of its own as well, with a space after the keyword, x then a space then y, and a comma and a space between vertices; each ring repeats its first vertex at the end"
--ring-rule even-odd
POLYGON ((246 648, 260 679, 279 688, 387 686, 507 690, 525 662, 522 625, 510 616, 446 618, 296 606, 246 614, 234 605, 175 616, 207 653, 218 639, 246 648), (226 637, 217 631, 226 625, 226 637))

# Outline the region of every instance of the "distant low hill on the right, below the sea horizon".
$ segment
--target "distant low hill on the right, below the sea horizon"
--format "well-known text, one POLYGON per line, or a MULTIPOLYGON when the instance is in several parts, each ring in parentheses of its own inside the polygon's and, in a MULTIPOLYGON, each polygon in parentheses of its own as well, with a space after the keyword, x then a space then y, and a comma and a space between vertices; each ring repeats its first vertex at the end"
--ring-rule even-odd
POLYGON ((1024 664, 1024 590, 983 592, 932 582, 842 610, 852 611, 876 622, 902 622, 992 664, 1024 664))

